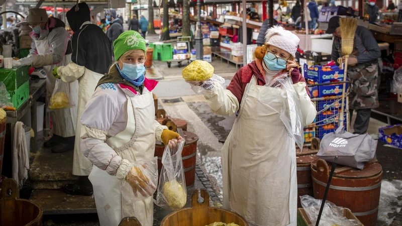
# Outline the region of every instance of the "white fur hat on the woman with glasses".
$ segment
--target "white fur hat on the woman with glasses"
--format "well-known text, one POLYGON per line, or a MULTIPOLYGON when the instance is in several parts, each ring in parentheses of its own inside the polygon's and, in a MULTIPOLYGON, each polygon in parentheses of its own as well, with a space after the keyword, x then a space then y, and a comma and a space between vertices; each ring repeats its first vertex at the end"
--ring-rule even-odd
POLYGON ((273 26, 265 33, 266 44, 283 49, 293 57, 295 57, 299 41, 300 39, 295 34, 280 26, 273 26))

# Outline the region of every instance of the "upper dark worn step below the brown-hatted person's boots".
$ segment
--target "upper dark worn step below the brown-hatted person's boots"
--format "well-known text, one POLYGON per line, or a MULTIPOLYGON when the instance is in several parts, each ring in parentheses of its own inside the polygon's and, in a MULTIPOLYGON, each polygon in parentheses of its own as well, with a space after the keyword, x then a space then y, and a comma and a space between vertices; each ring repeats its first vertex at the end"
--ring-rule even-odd
POLYGON ((30 167, 32 189, 59 189, 67 183, 75 183, 78 176, 72 175, 73 151, 52 153, 42 148, 36 153, 30 167))

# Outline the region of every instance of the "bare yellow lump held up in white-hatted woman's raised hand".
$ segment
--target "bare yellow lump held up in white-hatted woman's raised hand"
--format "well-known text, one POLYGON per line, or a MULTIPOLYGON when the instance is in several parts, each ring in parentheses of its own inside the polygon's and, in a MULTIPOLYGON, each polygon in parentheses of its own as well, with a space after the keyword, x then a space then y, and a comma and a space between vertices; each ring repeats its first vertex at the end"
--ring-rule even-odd
POLYGON ((204 60, 194 60, 181 72, 187 81, 205 81, 214 75, 214 67, 204 60))

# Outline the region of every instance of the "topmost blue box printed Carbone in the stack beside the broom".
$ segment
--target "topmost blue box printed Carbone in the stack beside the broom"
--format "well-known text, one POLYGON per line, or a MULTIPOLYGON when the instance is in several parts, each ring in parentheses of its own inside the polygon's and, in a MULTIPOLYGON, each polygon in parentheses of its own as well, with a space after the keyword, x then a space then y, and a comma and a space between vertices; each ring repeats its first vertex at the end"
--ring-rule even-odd
POLYGON ((343 80, 344 69, 338 66, 308 66, 304 64, 304 76, 319 83, 330 80, 343 80))

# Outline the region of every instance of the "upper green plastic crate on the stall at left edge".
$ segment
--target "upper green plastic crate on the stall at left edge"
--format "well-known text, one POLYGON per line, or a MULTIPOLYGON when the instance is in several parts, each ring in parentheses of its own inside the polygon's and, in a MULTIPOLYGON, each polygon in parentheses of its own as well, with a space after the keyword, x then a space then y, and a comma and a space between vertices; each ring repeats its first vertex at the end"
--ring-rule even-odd
POLYGON ((0 68, 0 81, 4 82, 7 91, 15 91, 29 81, 29 67, 0 68))

